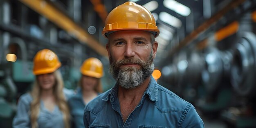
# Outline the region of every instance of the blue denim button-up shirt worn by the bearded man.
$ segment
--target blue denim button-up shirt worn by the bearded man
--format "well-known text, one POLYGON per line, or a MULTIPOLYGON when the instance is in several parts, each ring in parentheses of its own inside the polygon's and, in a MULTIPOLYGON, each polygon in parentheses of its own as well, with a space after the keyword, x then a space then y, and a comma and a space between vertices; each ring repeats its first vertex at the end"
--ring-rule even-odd
POLYGON ((157 84, 152 76, 126 122, 121 117, 117 93, 115 85, 85 107, 85 128, 204 128, 194 106, 157 84))

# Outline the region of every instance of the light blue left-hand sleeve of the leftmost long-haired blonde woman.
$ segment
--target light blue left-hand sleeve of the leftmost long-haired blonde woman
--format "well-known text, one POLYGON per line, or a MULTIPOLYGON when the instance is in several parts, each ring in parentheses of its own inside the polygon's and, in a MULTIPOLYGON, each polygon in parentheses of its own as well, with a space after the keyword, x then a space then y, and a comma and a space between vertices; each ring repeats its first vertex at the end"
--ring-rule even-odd
POLYGON ((13 118, 13 128, 30 127, 29 109, 29 101, 25 97, 21 97, 18 101, 16 116, 13 118))

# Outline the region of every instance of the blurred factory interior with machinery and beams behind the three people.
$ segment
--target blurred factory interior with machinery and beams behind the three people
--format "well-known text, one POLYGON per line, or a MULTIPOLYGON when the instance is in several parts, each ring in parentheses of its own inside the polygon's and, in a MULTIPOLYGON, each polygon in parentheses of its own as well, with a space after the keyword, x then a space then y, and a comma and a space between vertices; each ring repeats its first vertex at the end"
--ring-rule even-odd
MULTIPOLYGON (((0 0, 0 128, 12 128, 31 90, 33 58, 51 49, 65 88, 75 90, 86 58, 109 74, 108 13, 128 0, 0 0)), ((130 0, 154 16, 160 35, 157 83, 192 103, 205 128, 256 128, 256 0, 130 0)))

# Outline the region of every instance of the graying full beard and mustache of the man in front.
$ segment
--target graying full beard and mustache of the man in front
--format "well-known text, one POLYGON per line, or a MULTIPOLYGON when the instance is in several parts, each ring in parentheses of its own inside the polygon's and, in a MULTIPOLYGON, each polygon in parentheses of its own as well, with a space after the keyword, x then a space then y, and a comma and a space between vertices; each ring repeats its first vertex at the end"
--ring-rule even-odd
POLYGON ((141 65, 141 69, 137 67, 124 67, 120 69, 113 65, 113 63, 110 63, 110 74, 117 81, 117 84, 124 89, 139 87, 152 74, 153 70, 154 63, 152 56, 149 57, 149 60, 144 65, 141 65))

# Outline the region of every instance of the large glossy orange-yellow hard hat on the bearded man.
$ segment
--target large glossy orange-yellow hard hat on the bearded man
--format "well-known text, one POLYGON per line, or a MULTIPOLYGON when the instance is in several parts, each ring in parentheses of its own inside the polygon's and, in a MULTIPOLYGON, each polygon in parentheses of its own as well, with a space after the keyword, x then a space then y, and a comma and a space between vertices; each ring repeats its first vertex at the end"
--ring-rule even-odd
POLYGON ((153 15, 135 2, 125 2, 113 9, 106 18, 102 35, 108 37, 108 34, 121 30, 148 31, 153 33, 155 38, 159 35, 153 15))

